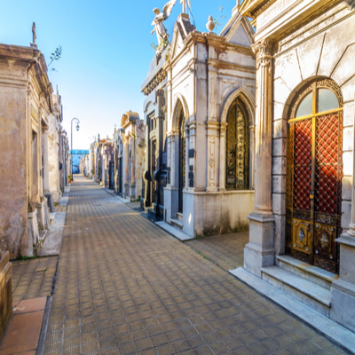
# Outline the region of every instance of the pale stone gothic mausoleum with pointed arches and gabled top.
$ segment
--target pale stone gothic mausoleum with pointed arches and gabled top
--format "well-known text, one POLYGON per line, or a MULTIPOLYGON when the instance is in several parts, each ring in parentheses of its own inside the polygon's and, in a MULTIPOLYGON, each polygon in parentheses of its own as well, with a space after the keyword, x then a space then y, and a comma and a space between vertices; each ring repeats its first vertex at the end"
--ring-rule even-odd
POLYGON ((167 73, 170 168, 170 181, 164 189, 164 220, 191 237, 248 229, 247 217, 254 208, 253 36, 238 6, 220 36, 195 30, 185 13, 174 28, 170 58, 163 67, 167 73), (237 99, 248 121, 248 162, 243 162, 248 187, 227 189, 227 115, 237 99), (183 139, 185 152, 181 149, 183 139))

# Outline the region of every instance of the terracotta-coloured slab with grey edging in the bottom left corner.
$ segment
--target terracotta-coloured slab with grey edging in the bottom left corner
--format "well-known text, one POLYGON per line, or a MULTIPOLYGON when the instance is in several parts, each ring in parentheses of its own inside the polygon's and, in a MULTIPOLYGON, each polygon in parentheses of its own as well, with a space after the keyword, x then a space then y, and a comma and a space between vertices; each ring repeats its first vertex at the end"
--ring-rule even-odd
POLYGON ((12 303, 12 319, 0 344, 2 355, 43 355, 51 296, 12 303))

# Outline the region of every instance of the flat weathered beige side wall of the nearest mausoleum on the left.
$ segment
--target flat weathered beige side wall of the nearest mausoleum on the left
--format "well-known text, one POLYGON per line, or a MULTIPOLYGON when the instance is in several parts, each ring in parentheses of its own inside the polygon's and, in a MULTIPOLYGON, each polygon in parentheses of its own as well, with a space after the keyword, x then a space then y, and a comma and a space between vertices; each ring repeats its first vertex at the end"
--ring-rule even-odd
MULTIPOLYGON (((20 79, 22 70, 0 65, 0 76, 10 71, 20 79)), ((25 255, 28 242, 26 95, 25 86, 0 84, 0 249, 8 250, 10 257, 25 255)))

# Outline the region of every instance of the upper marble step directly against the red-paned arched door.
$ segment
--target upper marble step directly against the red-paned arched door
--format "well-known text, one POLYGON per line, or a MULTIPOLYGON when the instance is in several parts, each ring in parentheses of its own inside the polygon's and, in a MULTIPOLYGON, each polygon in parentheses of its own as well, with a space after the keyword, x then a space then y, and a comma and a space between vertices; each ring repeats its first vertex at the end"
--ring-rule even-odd
POLYGON ((329 290, 332 287, 332 283, 339 279, 339 276, 333 272, 327 272, 327 270, 306 264, 291 256, 276 256, 276 264, 279 265, 281 269, 295 273, 296 275, 329 290))

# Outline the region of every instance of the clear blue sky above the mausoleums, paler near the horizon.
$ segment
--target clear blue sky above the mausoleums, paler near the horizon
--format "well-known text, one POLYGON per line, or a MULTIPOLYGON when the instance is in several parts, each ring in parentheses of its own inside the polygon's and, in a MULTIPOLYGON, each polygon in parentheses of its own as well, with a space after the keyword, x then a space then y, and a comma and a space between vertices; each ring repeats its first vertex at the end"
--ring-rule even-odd
MULTIPOLYGON (((0 43, 28 46, 32 22, 36 22, 38 49, 49 63, 59 45, 62 57, 49 72, 53 88, 59 86, 64 106, 64 127, 78 117, 81 129, 74 135, 74 148, 87 149, 98 133, 114 133, 124 112, 137 111, 143 118, 144 95, 140 86, 154 57, 150 35, 154 7, 167 0, 0 0, 0 43)), ((209 15, 217 17, 223 6, 225 24, 236 0, 192 0, 193 17, 201 32, 209 15)), ((166 27, 172 34, 181 12, 177 0, 166 27)), ((223 27, 217 29, 219 32, 223 27)), ((170 36, 171 40, 171 36, 170 36)))

